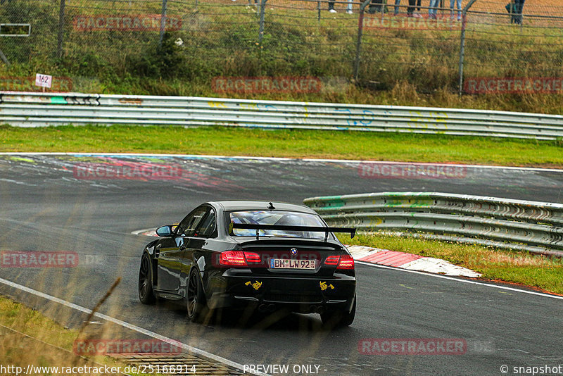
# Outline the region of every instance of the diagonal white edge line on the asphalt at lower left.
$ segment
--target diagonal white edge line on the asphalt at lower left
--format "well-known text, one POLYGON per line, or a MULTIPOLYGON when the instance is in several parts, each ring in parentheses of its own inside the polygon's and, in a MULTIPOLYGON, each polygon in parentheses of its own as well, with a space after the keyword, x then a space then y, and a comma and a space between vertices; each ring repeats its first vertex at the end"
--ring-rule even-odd
MULTIPOLYGON (((12 281, 4 280, 4 278, 0 278, 0 283, 6 284, 6 285, 13 287, 15 289, 20 289, 24 292, 27 292, 28 294, 33 294, 35 296, 39 296, 41 298, 48 299, 50 301, 54 301, 56 303, 62 304, 63 306, 73 308, 73 309, 80 311, 80 312, 83 312, 83 313, 91 313, 91 310, 88 309, 88 308, 84 308, 84 307, 79 306, 75 303, 70 303, 70 301, 65 301, 63 299, 57 298, 56 296, 45 294, 44 292, 39 292, 37 290, 30 289, 30 287, 25 287, 22 284, 18 284, 18 283, 12 282, 12 281)), ((229 361, 229 359, 223 358, 222 356, 217 356, 213 353, 208 353, 207 351, 198 349, 194 346, 190 346, 189 344, 184 344, 184 343, 177 341, 175 339, 165 337, 161 334, 151 332, 151 330, 146 330, 142 327, 138 327, 137 325, 129 324, 129 322, 125 322, 125 321, 119 320, 117 318, 113 318, 111 316, 104 315, 103 313, 98 313, 98 312, 94 313, 94 316, 96 316, 97 318, 101 318, 103 320, 109 321, 109 322, 113 322, 114 324, 120 325, 120 326, 125 327, 129 330, 134 330, 135 332, 145 334, 148 337, 153 337, 154 339, 159 339, 160 341, 167 342, 169 344, 173 344, 175 346, 181 347, 182 349, 188 350, 191 353, 194 353, 196 355, 205 356, 206 358, 210 358, 210 359, 213 359, 214 361, 224 363, 224 364, 229 365, 231 367, 237 368, 241 371, 243 370, 242 364, 236 363, 234 361, 229 361)), ((257 375, 257 376, 270 376, 267 373, 250 372, 250 371, 244 371, 244 372, 251 373, 252 375, 257 375)))

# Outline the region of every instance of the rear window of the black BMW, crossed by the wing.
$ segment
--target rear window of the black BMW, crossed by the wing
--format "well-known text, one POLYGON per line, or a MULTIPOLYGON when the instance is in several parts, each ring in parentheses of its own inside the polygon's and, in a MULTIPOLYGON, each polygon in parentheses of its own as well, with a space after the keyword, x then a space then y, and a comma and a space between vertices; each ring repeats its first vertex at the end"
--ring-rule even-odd
MULTIPOLYGON (((233 211, 229 213, 230 222, 252 225, 284 225, 284 226, 315 226, 325 227, 322 220, 315 214, 296 213, 294 211, 233 211)), ((256 230, 233 229, 239 237, 253 237, 256 230)), ((324 232, 260 230, 260 237, 303 237, 308 239, 324 239, 324 232)))

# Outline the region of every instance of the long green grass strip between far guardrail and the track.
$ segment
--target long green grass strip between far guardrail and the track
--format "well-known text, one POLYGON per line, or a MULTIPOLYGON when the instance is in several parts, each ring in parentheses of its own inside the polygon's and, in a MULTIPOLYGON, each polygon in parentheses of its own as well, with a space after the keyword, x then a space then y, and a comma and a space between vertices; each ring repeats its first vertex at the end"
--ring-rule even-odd
POLYGON ((559 141, 222 127, 0 127, 0 151, 186 153, 563 166, 559 141))

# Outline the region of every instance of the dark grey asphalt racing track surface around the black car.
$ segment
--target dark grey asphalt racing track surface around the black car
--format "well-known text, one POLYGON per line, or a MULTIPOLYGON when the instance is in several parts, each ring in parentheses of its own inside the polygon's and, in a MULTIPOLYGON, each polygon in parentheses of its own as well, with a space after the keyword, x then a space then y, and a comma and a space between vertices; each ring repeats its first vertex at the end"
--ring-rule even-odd
MULTIPOLYGON (((455 179, 367 179, 358 163, 251 158, 0 156, 0 251, 75 251, 75 268, 1 268, 0 277, 92 307, 116 277, 122 283, 101 312, 241 364, 314 364, 320 375, 501 375, 500 366, 563 364, 562 300, 455 279, 357 265, 358 313, 351 327, 325 330, 315 315, 280 320, 255 315, 196 325, 182 307, 137 299, 142 247, 130 234, 180 220, 214 199, 301 203, 305 197, 382 191, 433 191, 561 202, 563 171, 464 168, 455 179), (85 163, 182 169, 182 177, 84 179, 85 163), (464 355, 362 355, 365 338, 460 338, 464 355)), ((377 246, 377 244, 375 244, 377 246)), ((80 315, 13 296, 70 327, 80 315)), ((289 375, 293 375, 292 372, 289 375)))

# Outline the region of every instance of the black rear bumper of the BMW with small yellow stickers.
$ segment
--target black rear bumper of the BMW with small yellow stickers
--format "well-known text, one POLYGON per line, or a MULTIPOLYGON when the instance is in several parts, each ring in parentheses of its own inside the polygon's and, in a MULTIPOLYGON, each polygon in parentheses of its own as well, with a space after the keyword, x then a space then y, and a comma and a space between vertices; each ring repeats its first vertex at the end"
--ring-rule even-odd
POLYGON ((355 277, 335 273, 330 278, 252 276, 236 270, 209 276, 210 308, 243 308, 254 304, 264 311, 289 308, 303 313, 350 311, 355 296, 355 277))

